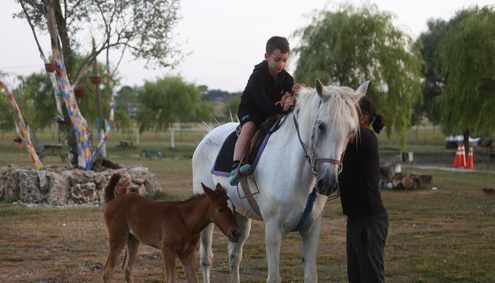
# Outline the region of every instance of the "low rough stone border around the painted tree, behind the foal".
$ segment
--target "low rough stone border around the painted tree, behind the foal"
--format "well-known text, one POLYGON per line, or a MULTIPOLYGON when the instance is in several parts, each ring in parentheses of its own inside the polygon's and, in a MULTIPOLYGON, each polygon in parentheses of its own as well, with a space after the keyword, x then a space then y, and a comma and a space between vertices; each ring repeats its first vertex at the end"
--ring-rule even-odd
POLYGON ((0 167, 0 200, 52 205, 103 204, 110 176, 122 171, 132 176, 132 184, 127 188, 130 192, 153 195, 161 190, 156 176, 140 165, 95 172, 61 166, 34 170, 11 164, 0 167))

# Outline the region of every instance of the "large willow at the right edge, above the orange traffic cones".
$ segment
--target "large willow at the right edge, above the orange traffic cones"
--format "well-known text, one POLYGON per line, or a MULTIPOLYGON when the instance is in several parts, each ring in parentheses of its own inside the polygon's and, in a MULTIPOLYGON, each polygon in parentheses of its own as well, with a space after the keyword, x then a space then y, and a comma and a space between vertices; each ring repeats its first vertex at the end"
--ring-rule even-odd
POLYGON ((440 42, 441 69, 448 74, 436 100, 444 132, 462 132, 466 150, 470 134, 495 134, 495 11, 472 8, 440 42))

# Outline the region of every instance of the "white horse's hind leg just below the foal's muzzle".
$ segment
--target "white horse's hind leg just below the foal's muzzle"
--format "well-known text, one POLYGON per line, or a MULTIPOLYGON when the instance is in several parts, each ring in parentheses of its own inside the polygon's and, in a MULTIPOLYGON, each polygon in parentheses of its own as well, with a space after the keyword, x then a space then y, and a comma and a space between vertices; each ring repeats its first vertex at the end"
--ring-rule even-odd
POLYGON ((235 213, 235 219, 240 226, 240 238, 237 243, 228 243, 228 265, 231 267, 231 280, 233 283, 240 282, 239 265, 243 260, 243 246, 251 231, 251 219, 235 213))

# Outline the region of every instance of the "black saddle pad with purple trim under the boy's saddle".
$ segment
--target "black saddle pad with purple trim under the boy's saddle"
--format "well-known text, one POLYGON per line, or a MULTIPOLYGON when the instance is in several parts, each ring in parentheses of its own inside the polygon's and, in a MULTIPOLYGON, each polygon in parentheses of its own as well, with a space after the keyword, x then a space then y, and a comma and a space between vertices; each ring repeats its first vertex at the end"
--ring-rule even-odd
MULTIPOLYGON (((267 145, 269 137, 272 135, 273 132, 276 131, 276 129, 279 129, 283 122, 284 121, 281 121, 281 117, 279 117, 278 119, 274 120, 274 124, 271 125, 268 131, 264 131, 262 142, 257 144, 255 151, 253 151, 253 153, 248 156, 248 163, 250 163, 251 165, 251 172, 255 170, 258 160, 260 159, 260 156, 264 150, 264 146, 267 145)), ((237 141, 237 139, 238 136, 234 131, 228 135, 225 141, 223 141, 222 147, 219 151, 219 155, 216 156, 213 168, 211 168, 211 174, 228 177, 228 175, 231 173, 235 141, 237 141)))

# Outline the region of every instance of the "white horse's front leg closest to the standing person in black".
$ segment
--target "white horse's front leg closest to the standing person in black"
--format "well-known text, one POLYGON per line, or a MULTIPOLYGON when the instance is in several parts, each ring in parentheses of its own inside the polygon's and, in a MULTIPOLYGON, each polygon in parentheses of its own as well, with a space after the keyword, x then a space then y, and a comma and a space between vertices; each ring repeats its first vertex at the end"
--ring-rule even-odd
POLYGON ((301 231, 301 236, 303 237, 304 283, 318 282, 316 253, 322 226, 321 217, 320 214, 313 223, 308 223, 306 229, 301 231))

